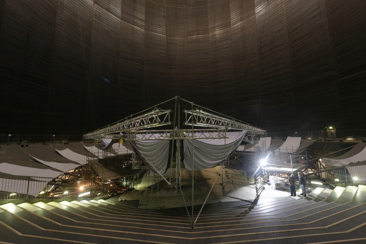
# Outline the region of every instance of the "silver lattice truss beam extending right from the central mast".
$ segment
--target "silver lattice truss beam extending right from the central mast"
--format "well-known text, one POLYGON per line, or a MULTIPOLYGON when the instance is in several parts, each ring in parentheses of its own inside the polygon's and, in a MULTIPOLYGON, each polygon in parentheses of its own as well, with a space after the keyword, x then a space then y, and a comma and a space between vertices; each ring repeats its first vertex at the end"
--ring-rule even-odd
POLYGON ((186 113, 185 125, 197 125, 215 127, 221 129, 248 130, 257 133, 266 133, 266 130, 243 123, 242 121, 228 119, 213 113, 202 111, 202 109, 183 110, 186 113))

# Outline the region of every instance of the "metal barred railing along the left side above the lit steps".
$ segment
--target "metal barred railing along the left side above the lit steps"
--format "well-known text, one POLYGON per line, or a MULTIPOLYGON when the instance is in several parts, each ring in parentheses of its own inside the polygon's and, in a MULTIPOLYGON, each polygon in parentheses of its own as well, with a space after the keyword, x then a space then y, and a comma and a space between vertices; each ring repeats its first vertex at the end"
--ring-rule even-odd
POLYGON ((130 188, 130 181, 124 178, 102 181, 0 175, 0 200, 110 197, 130 188))

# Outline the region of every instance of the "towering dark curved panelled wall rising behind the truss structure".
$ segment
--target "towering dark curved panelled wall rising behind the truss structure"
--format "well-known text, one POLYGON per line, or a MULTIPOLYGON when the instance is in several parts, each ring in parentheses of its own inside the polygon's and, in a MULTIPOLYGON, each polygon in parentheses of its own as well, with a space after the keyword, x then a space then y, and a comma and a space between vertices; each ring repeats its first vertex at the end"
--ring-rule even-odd
POLYGON ((268 131, 365 128, 364 0, 0 1, 2 133, 180 96, 268 131))

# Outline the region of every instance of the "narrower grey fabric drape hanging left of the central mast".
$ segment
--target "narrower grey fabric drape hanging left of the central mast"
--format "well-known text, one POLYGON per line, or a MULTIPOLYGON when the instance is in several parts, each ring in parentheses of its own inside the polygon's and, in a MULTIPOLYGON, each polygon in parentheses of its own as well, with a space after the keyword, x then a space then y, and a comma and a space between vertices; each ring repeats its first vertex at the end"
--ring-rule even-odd
MULTIPOLYGON (((142 135, 136 135, 137 139, 142 135)), ((168 161, 170 155, 170 140, 132 140, 130 141, 132 148, 139 158, 154 172, 164 174, 168 169, 168 161), (147 161, 147 160, 148 161, 147 161)))

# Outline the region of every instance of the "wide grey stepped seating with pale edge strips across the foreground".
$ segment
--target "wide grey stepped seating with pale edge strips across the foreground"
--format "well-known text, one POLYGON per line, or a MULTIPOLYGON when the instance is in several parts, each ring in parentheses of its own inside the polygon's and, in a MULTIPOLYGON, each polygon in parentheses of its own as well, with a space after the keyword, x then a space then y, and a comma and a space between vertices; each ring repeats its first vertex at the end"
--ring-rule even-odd
POLYGON ((106 200, 0 205, 0 243, 365 243, 366 186, 316 188, 251 207, 142 210, 106 200), (197 216, 197 213, 195 213, 197 216))

